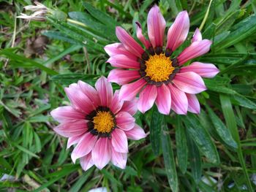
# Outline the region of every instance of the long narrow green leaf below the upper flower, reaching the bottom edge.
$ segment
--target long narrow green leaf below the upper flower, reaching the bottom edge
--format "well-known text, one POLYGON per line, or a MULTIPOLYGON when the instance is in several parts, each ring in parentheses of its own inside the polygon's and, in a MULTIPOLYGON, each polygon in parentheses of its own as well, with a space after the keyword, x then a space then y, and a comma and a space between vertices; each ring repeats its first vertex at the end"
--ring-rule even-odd
POLYGON ((168 182, 172 191, 178 191, 178 176, 176 172, 176 164, 166 123, 161 124, 161 130, 162 154, 165 161, 165 172, 167 174, 168 182))

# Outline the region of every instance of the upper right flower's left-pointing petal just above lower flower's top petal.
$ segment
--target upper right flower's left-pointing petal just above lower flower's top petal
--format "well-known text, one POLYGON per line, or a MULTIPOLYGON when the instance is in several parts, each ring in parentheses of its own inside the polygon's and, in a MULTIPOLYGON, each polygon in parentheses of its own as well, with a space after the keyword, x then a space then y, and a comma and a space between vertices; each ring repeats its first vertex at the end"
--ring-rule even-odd
POLYGON ((112 69, 108 74, 108 81, 116 82, 118 85, 124 85, 139 78, 140 73, 137 70, 112 69))

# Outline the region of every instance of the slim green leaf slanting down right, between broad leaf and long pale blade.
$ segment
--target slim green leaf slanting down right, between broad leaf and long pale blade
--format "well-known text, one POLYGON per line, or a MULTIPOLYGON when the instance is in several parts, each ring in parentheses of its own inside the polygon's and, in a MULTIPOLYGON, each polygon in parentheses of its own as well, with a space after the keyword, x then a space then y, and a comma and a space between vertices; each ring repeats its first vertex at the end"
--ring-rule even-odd
POLYGON ((214 124, 214 127, 216 128, 216 131, 219 135, 219 137, 222 138, 222 140, 225 142, 226 145, 237 148, 237 144, 232 138, 229 129, 225 126, 224 123, 222 123, 222 120, 218 118, 218 116, 214 113, 213 110, 211 110, 208 105, 206 105, 206 109, 208 110, 208 114, 211 118, 211 122, 214 124))

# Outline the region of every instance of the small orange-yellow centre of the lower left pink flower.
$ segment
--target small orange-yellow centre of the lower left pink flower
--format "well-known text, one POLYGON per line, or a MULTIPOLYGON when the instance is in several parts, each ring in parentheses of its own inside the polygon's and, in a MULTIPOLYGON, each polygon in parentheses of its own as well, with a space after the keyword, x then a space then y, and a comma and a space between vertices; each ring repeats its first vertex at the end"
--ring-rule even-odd
POLYGON ((110 133, 115 126, 114 118, 110 112, 97 112, 93 122, 94 128, 97 129, 99 133, 110 133))

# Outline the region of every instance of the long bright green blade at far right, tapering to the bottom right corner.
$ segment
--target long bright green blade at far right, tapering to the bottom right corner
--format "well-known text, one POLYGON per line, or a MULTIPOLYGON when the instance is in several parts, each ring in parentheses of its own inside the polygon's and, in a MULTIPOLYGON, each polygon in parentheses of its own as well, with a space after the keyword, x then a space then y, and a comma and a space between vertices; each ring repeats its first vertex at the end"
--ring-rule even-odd
POLYGON ((241 142, 240 142, 239 134, 238 134, 238 127, 237 127, 236 121, 235 121, 236 118, 235 118, 235 114, 232 109, 232 104, 230 102, 230 98, 227 95, 223 95, 223 94, 221 94, 219 97, 220 97, 220 101, 222 104, 222 111, 223 111, 223 114, 224 114, 224 117, 225 117, 225 120, 227 123, 227 128, 230 129, 233 139, 235 139, 235 141, 237 142, 237 145, 238 145, 238 150, 237 150, 238 159, 243 168, 244 176, 246 178, 246 183, 249 187, 249 191, 252 192, 253 191, 252 183, 249 180, 249 174, 246 169, 246 164, 245 164, 243 152, 241 149, 241 142))

